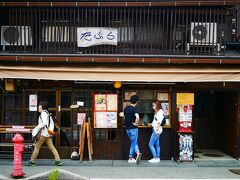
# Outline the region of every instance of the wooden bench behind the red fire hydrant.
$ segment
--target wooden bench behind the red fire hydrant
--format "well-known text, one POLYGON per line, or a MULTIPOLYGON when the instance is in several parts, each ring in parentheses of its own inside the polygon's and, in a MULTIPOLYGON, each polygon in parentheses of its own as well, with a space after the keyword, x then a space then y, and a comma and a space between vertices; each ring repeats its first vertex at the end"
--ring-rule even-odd
MULTIPOLYGON (((10 126, 10 125, 0 125, 0 136, 3 134, 9 134, 10 138, 7 140, 4 140, 5 142, 0 142, 0 158, 13 158, 13 151, 14 151, 14 144, 12 143, 12 137, 16 133, 20 134, 31 134, 33 126, 10 126), (21 128, 20 128, 21 127, 21 128)), ((1 140, 3 138, 1 137, 1 140)), ((29 158, 32 149, 31 146, 33 145, 32 142, 23 142, 24 144, 24 153, 23 153, 23 158, 29 158)))

